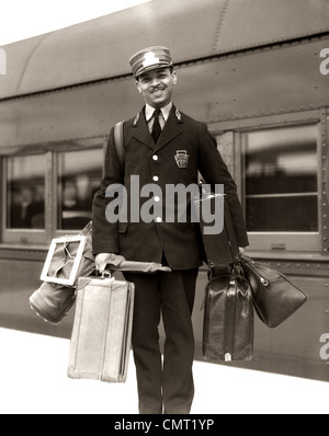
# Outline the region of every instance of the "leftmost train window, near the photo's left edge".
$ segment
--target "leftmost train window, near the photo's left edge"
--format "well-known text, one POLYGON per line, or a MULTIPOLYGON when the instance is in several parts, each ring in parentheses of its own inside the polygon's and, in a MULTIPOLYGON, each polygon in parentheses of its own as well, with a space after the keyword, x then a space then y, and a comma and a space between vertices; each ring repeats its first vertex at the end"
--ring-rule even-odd
POLYGON ((9 157, 7 174, 7 229, 45 228, 45 154, 9 157))

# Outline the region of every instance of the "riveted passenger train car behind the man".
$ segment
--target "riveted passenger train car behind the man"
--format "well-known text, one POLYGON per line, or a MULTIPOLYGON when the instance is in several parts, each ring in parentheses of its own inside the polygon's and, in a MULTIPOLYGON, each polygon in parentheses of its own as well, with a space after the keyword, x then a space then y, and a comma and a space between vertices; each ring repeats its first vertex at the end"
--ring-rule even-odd
MULTIPOLYGON (((141 107, 129 57, 163 45, 175 105, 237 182, 248 254, 309 297, 276 329, 256 317, 252 362, 229 365, 329 381, 328 18, 327 0, 155 0, 2 47, 0 326, 70 337, 73 310, 46 324, 29 297, 52 239, 90 220, 111 126, 141 107)), ((197 359, 206 282, 202 267, 197 359)))

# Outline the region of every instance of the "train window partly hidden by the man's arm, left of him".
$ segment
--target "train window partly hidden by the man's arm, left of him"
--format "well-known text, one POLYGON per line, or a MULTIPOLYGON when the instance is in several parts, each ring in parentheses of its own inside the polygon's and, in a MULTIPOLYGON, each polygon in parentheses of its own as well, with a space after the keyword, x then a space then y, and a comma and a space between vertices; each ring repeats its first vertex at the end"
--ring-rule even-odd
POLYGON ((57 153, 57 229, 81 230, 91 219, 102 175, 102 149, 57 153))

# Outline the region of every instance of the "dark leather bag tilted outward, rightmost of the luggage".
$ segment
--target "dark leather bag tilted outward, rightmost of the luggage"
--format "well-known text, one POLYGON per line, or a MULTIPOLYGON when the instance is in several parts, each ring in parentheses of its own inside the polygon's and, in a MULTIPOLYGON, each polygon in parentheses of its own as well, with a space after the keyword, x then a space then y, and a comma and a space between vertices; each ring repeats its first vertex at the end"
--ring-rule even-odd
POLYGON ((284 274, 252 259, 241 256, 251 285, 254 309, 264 324, 275 328, 296 312, 308 296, 284 274))

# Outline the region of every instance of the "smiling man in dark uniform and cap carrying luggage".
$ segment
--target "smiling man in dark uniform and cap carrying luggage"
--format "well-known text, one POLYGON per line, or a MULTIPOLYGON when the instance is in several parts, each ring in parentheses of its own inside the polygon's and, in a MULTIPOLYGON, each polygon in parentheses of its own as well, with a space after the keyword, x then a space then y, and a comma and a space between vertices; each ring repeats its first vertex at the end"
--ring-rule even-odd
MULTIPOLYGON (((236 184, 217 151, 216 140, 206 125, 184 115, 172 103, 178 77, 168 48, 143 49, 129 62, 146 104, 137 116, 124 124, 124 169, 116 154, 113 129, 111 131, 102 186, 93 203, 93 253, 99 271, 116 254, 128 261, 170 266, 171 272, 129 273, 125 277, 135 284, 136 292, 133 351, 139 412, 183 414, 190 413, 194 395, 191 314, 203 245, 200 226, 191 219, 191 204, 186 204, 186 222, 177 217, 177 202, 170 205, 175 219, 166 221, 166 186, 197 184, 198 171, 206 183, 223 184, 239 245, 248 245, 248 238, 236 184), (159 115, 156 110, 160 110, 159 115), (154 139, 152 134, 159 138, 154 139), (158 207, 161 197, 155 196, 151 220, 132 219, 133 215, 136 218, 133 208, 138 204, 135 197, 131 198, 136 187, 132 176, 136 175, 140 190, 152 184, 162 193, 163 213, 160 214, 158 207), (133 204, 128 222, 106 220, 105 209, 111 198, 105 196, 105 191, 114 184, 125 186, 127 204, 133 204), (163 363, 158 333, 160 313, 166 332, 163 363)), ((140 210, 149 198, 140 196, 140 210)))

